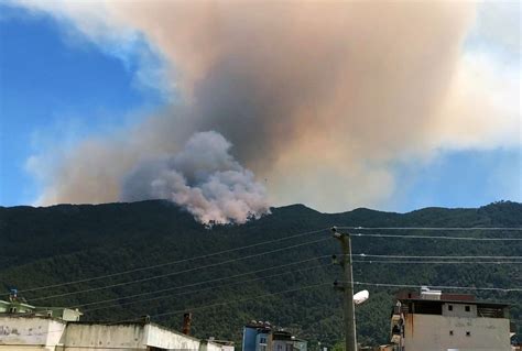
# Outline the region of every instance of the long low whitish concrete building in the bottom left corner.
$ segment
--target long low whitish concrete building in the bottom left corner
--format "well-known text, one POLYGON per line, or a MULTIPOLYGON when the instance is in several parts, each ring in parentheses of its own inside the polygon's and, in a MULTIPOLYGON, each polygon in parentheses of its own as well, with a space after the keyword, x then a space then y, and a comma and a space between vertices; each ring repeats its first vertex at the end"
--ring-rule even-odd
POLYGON ((85 322, 67 308, 34 307, 18 298, 0 301, 0 351, 233 351, 150 322, 85 322))

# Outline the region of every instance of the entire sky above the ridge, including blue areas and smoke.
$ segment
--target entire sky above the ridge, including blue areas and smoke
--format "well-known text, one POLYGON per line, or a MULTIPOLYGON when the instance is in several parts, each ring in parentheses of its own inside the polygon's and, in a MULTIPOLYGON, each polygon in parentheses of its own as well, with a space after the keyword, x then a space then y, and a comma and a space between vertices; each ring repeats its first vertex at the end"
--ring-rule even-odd
POLYGON ((522 201, 518 2, 152 3, 0 2, 0 206, 522 201))

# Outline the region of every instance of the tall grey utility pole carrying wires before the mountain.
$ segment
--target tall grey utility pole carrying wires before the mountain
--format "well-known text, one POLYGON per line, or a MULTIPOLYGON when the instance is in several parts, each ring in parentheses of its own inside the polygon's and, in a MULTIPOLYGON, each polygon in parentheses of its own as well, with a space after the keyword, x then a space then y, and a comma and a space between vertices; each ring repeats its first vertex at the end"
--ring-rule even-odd
MULTIPOLYGON (((345 273, 345 282, 341 287, 345 295, 345 351, 357 351, 356 314, 354 305, 354 274, 351 270, 351 239, 350 234, 338 232, 336 227, 333 227, 331 231, 334 232, 334 238, 339 240, 340 246, 342 249, 342 257, 339 263, 345 273)), ((336 283, 334 284, 337 285, 336 283)))

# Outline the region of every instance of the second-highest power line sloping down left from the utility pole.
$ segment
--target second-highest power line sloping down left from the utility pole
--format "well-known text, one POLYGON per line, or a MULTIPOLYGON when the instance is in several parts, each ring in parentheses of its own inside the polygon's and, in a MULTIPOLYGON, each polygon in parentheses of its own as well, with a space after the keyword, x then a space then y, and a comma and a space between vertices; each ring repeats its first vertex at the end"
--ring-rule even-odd
POLYGON ((215 266, 218 266, 218 265, 232 263, 232 262, 237 262, 237 261, 242 261, 242 260, 247 260, 247 259, 259 257, 259 256, 262 256, 262 255, 265 255, 265 254, 270 254, 270 253, 274 253, 274 252, 281 252, 281 251, 284 251, 284 250, 290 250, 290 249, 295 249, 295 248, 301 248, 301 246, 304 246, 304 245, 318 243, 318 242, 323 242, 323 241, 326 241, 326 240, 329 240, 329 238, 323 238, 323 239, 308 241, 308 242, 305 242, 305 243, 300 243, 300 244, 295 244, 295 245, 291 245, 291 246, 286 246, 286 248, 280 248, 280 249, 275 249, 275 250, 271 250, 271 251, 267 251, 267 252, 261 252, 261 253, 255 253, 255 254, 251 254, 251 255, 247 255, 247 256, 242 256, 242 257, 238 257, 238 259, 233 259, 233 260, 227 260, 227 261, 222 261, 222 262, 218 262, 218 263, 197 266, 197 267, 193 267, 193 268, 188 268, 188 270, 184 270, 184 271, 165 273, 165 274, 150 276, 150 277, 145 277, 145 278, 141 278, 141 279, 134 279, 134 281, 130 281, 130 282, 122 282, 122 283, 111 284, 111 285, 107 285, 107 286, 93 287, 93 288, 87 288, 87 289, 77 290, 77 292, 69 292, 69 293, 55 294, 55 295, 50 295, 50 296, 45 296, 45 297, 33 298, 32 301, 50 299, 50 298, 55 298, 55 297, 69 296, 69 295, 76 295, 76 294, 81 294, 81 293, 97 292, 97 290, 108 289, 108 288, 111 288, 111 287, 118 287, 118 286, 124 286, 124 285, 130 285, 130 284, 142 283, 142 282, 149 282, 149 281, 159 279, 159 278, 163 278, 163 277, 167 277, 167 276, 174 276, 174 275, 180 275, 180 274, 183 274, 183 273, 194 272, 194 271, 198 271, 198 270, 203 270, 203 268, 215 267, 215 266))

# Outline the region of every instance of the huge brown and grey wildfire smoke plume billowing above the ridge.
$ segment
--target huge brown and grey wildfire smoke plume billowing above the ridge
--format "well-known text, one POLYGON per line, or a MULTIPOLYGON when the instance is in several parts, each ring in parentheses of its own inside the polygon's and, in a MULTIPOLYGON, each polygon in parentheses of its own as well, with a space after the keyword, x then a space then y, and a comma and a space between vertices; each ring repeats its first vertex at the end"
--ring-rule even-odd
POLYGON ((521 143, 516 76, 463 55, 475 14, 467 2, 28 6, 98 43, 144 34, 181 101, 80 144, 47 175, 44 204, 112 201, 122 188, 126 200, 170 198, 205 221, 243 221, 265 200, 241 163, 267 179, 272 204, 379 206, 396 189, 394 162, 521 143), (208 130, 233 144, 239 163, 218 134, 191 136, 208 130), (207 149, 207 138, 220 147, 207 149))

